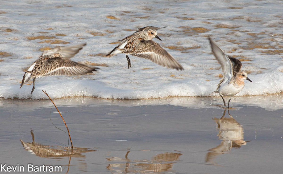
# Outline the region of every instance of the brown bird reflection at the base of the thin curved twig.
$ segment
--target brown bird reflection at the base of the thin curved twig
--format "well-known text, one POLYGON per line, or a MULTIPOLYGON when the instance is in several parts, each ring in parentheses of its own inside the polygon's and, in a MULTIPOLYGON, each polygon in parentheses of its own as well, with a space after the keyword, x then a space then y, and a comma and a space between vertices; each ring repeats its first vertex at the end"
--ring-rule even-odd
POLYGON ((81 153, 96 151, 94 149, 88 149, 88 148, 82 148, 82 147, 73 147, 72 149, 71 147, 63 147, 59 145, 50 146, 50 145, 43 145, 41 143, 36 143, 33 131, 34 130, 31 129, 31 137, 33 139, 33 142, 26 143, 20 140, 25 150, 31 152, 31 154, 34 154, 36 156, 43 157, 43 158, 50 158, 50 157, 58 158, 58 157, 68 156, 69 164, 68 164, 68 170, 66 173, 68 173, 69 171, 71 157, 85 158, 85 155, 82 155, 81 153))

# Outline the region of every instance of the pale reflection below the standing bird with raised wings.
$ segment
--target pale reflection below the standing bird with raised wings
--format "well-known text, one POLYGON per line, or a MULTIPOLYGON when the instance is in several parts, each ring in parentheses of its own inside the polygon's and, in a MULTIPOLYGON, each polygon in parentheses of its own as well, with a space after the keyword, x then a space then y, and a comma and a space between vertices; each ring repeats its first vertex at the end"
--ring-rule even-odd
POLYGON ((244 129, 231 115, 228 110, 229 118, 225 117, 226 109, 224 110, 223 116, 218 118, 213 118, 213 121, 216 123, 216 129, 218 132, 218 138, 222 142, 209 149, 205 157, 205 162, 213 165, 217 165, 215 158, 218 155, 229 153, 232 148, 240 148, 242 145, 246 145, 248 141, 244 141, 244 129))

